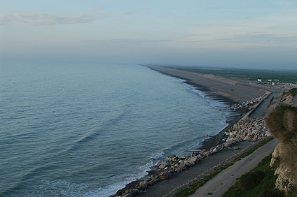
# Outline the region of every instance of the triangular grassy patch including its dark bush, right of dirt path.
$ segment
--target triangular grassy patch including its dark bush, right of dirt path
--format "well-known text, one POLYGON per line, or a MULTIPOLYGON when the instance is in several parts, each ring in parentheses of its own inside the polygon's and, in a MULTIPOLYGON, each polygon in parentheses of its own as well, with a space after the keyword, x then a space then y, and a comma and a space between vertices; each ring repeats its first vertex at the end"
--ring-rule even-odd
POLYGON ((271 155, 266 156, 254 170, 242 175, 223 197, 284 196, 284 192, 275 189, 275 180, 277 177, 274 170, 270 167, 271 158, 271 155))

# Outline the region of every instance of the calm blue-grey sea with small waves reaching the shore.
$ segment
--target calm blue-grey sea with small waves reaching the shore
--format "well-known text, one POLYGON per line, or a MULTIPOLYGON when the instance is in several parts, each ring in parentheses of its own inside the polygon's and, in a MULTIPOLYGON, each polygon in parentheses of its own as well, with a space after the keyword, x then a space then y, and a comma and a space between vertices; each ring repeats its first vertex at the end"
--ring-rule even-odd
POLYGON ((109 196, 226 117, 137 65, 1 64, 0 196, 109 196))

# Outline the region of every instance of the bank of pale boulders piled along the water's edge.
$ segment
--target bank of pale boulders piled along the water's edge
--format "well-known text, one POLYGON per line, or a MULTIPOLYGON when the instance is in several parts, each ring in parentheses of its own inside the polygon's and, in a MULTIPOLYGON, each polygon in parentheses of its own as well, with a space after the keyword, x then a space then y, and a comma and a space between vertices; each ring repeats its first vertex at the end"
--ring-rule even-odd
MULTIPOLYGON (((203 159, 223 149, 233 149, 233 145, 245 140, 263 140, 266 136, 268 136, 268 130, 265 128, 264 119, 248 118, 240 120, 224 133, 224 138, 220 145, 210 149, 202 149, 200 152, 193 152, 191 156, 167 156, 165 159, 155 163, 154 166, 158 168, 156 174, 151 175, 146 180, 137 182, 132 187, 125 187, 125 189, 119 190, 115 195, 112 195, 112 197, 136 196, 146 191, 146 189, 153 184, 169 179, 174 173, 180 173, 187 168, 198 165, 203 159)), ((234 147, 234 149, 235 148, 236 147, 234 147)))

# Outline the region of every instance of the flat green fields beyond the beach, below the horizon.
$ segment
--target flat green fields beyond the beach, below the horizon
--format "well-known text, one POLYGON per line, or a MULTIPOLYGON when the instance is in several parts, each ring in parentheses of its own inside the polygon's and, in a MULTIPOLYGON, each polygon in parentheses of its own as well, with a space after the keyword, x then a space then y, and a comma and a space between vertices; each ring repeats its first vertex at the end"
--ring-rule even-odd
POLYGON ((213 74, 226 78, 242 78, 245 80, 256 81, 258 78, 262 78, 263 82, 268 80, 279 80, 279 82, 297 82, 297 71, 264 71, 256 69, 238 69, 238 68, 195 68, 184 66, 171 66, 182 71, 191 71, 202 74, 213 74))

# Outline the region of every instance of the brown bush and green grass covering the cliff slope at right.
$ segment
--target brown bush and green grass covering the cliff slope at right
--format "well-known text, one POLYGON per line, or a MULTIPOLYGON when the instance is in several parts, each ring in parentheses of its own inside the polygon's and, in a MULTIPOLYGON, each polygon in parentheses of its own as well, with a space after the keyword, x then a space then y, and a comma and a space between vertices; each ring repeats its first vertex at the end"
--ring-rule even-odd
MULTIPOLYGON (((291 93, 289 93, 291 94, 291 93)), ((287 194, 275 189, 275 169, 282 165, 289 167, 290 175, 294 176, 297 168, 297 108, 289 105, 279 105, 270 112, 265 120, 272 136, 279 139, 282 144, 280 157, 275 158, 271 167, 272 156, 265 157, 258 167, 240 177, 237 183, 223 196, 260 196, 281 197, 297 196, 297 188, 291 187, 287 194)))

